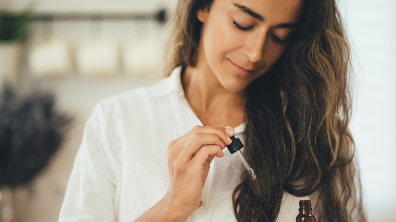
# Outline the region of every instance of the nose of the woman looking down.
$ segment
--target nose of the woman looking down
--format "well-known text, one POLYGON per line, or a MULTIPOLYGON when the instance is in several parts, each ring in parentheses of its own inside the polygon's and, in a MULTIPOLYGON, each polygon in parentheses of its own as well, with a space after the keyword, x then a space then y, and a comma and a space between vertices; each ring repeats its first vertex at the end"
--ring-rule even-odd
POLYGON ((249 57, 251 62, 257 63, 263 59, 266 38, 266 34, 260 33, 254 36, 254 38, 248 38, 246 40, 243 53, 249 57))

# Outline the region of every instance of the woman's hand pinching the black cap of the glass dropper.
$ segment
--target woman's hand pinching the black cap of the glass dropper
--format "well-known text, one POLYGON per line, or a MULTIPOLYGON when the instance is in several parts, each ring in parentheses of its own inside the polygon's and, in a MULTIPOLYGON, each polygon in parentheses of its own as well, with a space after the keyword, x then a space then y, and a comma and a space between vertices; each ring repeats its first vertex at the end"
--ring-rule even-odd
POLYGON ((172 210, 185 212, 187 218, 198 208, 210 163, 215 156, 224 156, 222 150, 233 135, 232 127, 195 126, 169 143, 169 188, 164 199, 172 210))

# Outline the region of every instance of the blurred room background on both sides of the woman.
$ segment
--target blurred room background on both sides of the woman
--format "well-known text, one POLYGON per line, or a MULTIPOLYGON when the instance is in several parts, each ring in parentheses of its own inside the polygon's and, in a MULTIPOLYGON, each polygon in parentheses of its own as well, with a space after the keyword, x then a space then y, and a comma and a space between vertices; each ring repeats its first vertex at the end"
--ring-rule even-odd
MULTIPOLYGON (((22 135, 47 138, 47 154, 35 156, 21 148, 20 139, 0 137, 0 145, 12 144, 19 152, 0 147, 0 170, 13 169, 0 174, 1 222, 57 221, 93 106, 160 79, 167 36, 162 24, 175 5, 176 0, 0 0, 0 84, 14 86, 0 88, 8 102, 0 106, 0 123, 9 125, 0 126, 0 133, 20 132, 23 122, 35 134, 22 130, 22 135), (5 25, 11 20, 14 29, 5 25), (6 29, 15 35, 2 33, 6 29), (50 133, 56 139, 48 140, 50 133), (25 175, 15 162, 35 170, 25 175)), ((366 212, 369 221, 395 221, 396 2, 341 0, 340 10, 352 47, 350 129, 366 212)))

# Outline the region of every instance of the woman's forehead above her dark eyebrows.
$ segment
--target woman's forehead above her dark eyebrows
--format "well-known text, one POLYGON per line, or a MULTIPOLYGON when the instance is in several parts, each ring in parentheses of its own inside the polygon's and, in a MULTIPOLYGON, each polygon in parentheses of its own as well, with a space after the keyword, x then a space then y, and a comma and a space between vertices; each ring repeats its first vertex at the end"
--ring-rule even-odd
MULTIPOLYGON (((314 0, 318 1, 318 0, 314 0)), ((263 17, 264 21, 298 22, 303 11, 304 0, 215 0, 221 8, 245 6, 263 17)))

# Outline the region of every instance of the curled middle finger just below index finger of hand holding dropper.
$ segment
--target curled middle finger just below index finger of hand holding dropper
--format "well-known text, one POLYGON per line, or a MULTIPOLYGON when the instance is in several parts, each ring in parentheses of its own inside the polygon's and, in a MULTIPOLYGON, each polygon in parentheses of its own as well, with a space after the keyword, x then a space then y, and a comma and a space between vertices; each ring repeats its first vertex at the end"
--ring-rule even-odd
POLYGON ((217 145, 220 150, 225 147, 223 141, 216 134, 209 133, 195 133, 186 142, 183 150, 180 153, 180 161, 188 163, 191 158, 199 151, 204 145, 217 145))

